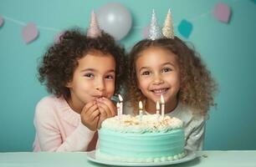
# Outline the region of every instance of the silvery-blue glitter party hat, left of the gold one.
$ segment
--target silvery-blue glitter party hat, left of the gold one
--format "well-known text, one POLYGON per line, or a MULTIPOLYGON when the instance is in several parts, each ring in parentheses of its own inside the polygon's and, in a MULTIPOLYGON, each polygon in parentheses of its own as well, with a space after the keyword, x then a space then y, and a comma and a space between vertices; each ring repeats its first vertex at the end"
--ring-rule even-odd
POLYGON ((151 40, 155 40, 158 38, 163 38, 163 35, 161 33, 161 28, 159 27, 156 19, 156 13, 153 9, 152 18, 151 18, 151 27, 149 31, 148 38, 151 40))

